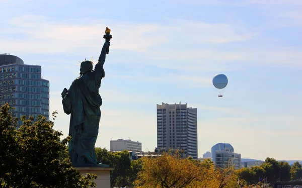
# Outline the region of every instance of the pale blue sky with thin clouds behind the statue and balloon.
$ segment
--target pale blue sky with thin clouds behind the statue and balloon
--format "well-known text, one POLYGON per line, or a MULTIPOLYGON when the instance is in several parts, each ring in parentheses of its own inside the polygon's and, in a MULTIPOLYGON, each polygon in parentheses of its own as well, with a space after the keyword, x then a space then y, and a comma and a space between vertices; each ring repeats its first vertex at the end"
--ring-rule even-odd
POLYGON ((0 53, 42 66, 54 129, 68 136, 63 88, 111 29, 97 147, 157 147, 157 104, 198 110, 198 157, 219 142, 242 158, 302 160, 302 1, 0 0, 0 53), (218 98, 212 85, 229 84, 218 98))

